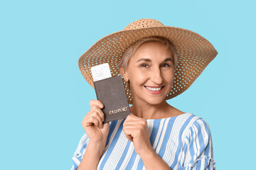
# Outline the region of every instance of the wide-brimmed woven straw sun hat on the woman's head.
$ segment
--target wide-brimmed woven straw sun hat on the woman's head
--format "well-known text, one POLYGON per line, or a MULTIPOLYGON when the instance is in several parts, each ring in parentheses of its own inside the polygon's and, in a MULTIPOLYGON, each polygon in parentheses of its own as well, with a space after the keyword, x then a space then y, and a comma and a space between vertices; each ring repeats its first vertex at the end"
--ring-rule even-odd
MULTIPOLYGON (((174 84, 166 99, 174 98, 186 91, 203 69, 218 54, 213 45, 198 33, 183 28, 164 26, 154 19, 139 19, 124 30, 117 31, 95 42, 78 61, 82 76, 94 88, 90 68, 103 63, 110 64, 112 76, 119 74, 117 65, 122 54, 137 40, 151 36, 161 36, 172 42, 177 51, 178 67, 174 74, 174 84)), ((124 81, 127 100, 132 104, 132 92, 124 81)))

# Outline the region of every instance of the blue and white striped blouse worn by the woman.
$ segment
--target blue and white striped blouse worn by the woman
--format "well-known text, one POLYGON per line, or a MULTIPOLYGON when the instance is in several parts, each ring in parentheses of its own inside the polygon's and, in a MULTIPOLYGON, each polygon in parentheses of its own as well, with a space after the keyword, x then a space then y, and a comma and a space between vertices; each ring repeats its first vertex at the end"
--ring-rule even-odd
MULTIPOLYGON (((192 113, 146 120, 155 152, 175 169, 215 169, 208 123, 192 113)), ((110 123, 105 152, 97 169, 145 169, 134 145, 124 136, 124 119, 110 123)), ((73 169, 80 164, 89 139, 83 135, 73 156, 73 169)))

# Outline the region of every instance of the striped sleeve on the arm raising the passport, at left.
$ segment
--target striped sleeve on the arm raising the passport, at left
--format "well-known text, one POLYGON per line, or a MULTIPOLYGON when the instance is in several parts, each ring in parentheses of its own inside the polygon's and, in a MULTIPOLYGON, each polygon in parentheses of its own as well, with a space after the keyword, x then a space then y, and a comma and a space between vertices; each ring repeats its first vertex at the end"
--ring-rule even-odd
POLYGON ((82 161, 82 157, 85 154, 85 150, 88 145, 88 142, 89 142, 89 137, 86 134, 83 135, 79 142, 78 148, 75 150, 75 154, 72 157, 73 166, 71 170, 78 169, 78 166, 82 161))

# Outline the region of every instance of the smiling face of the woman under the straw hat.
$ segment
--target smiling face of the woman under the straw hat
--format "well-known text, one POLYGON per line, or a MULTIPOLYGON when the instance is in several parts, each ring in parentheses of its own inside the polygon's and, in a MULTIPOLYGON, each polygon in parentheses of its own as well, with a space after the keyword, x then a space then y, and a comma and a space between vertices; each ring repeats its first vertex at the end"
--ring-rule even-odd
POLYGON ((130 58, 127 69, 121 68, 121 72, 125 81, 129 81, 136 103, 157 105, 165 102, 174 82, 171 52, 160 42, 142 44, 130 58))

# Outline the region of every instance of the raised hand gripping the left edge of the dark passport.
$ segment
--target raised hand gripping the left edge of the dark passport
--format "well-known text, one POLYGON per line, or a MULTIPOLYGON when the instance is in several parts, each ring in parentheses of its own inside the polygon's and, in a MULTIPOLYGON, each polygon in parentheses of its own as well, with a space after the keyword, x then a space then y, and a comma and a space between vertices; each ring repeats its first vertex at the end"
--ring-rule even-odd
POLYGON ((107 135, 110 131, 110 123, 103 124, 105 119, 104 113, 100 108, 103 108, 103 104, 100 101, 90 101, 91 110, 85 115, 82 120, 82 128, 84 128, 90 143, 101 144, 105 147, 107 141, 107 135))

